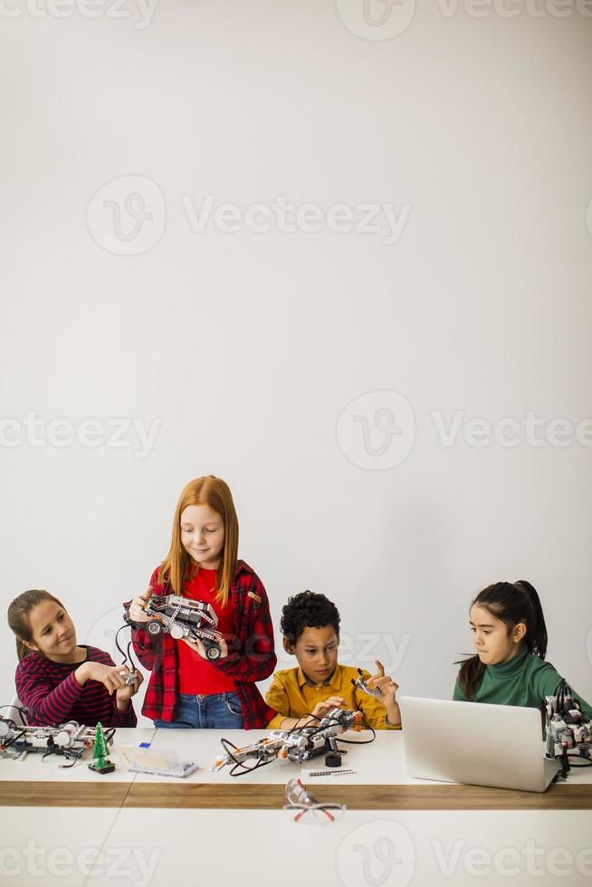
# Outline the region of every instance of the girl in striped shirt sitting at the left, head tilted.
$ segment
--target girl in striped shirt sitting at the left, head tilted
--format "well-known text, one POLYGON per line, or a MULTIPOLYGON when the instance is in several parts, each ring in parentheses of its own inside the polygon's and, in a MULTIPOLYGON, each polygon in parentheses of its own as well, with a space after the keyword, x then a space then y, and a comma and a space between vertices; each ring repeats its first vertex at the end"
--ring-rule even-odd
POLYGON ((33 726, 76 720, 87 727, 135 727, 131 697, 143 678, 126 686, 129 668, 109 653, 78 644, 62 603, 48 591, 25 591, 8 607, 19 663, 16 692, 33 726))

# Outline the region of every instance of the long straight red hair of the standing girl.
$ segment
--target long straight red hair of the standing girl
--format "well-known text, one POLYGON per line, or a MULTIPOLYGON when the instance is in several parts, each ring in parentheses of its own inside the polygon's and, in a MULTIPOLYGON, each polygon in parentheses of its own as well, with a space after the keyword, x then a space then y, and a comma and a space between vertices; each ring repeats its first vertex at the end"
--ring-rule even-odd
POLYGON ((181 515, 188 505, 207 505, 223 520, 224 548, 216 577, 217 594, 215 600, 220 601, 222 606, 226 606, 238 558, 238 518, 234 510, 233 494, 228 484, 219 477, 214 477, 213 474, 190 481, 179 496, 170 548, 167 557, 160 565, 158 581, 170 582, 175 594, 182 595, 186 579, 195 576, 199 569, 181 542, 181 515))

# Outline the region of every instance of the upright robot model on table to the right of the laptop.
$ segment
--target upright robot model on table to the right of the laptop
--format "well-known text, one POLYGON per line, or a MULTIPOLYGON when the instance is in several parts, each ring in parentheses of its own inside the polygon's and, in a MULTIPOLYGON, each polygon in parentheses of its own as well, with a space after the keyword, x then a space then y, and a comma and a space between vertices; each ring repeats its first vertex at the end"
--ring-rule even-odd
POLYGON ((566 778, 572 767, 592 767, 592 720, 581 710, 565 681, 555 692, 555 696, 545 697, 544 702, 545 753, 547 758, 559 760, 561 776, 566 778), (587 758, 587 761, 570 764, 570 758, 587 758))

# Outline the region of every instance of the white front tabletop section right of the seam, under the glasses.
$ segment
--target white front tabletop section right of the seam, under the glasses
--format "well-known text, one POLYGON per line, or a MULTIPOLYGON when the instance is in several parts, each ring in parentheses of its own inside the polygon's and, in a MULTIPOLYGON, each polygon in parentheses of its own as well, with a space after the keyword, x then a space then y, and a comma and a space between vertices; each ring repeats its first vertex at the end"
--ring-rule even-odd
POLYGON ((299 825, 282 810, 124 808, 101 844, 100 873, 83 883, 583 887, 592 879, 590 835, 591 811, 351 810, 329 825, 299 825))

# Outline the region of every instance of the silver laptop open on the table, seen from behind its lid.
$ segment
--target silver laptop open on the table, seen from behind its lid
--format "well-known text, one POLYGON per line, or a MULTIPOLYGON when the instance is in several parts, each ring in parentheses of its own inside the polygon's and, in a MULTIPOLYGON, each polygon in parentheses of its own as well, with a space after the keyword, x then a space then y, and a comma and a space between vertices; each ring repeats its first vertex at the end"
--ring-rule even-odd
POLYGON ((398 702, 410 777, 544 792, 559 772, 559 761, 544 757, 538 709, 411 696, 398 702))

